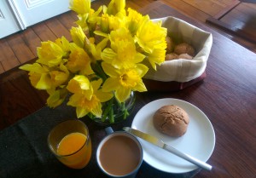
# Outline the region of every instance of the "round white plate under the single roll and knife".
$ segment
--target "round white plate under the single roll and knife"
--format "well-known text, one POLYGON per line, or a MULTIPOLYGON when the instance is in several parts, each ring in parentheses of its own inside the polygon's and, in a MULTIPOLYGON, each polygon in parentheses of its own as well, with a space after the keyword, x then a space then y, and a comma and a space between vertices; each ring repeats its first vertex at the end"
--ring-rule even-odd
MULTIPOLYGON (((185 152, 204 162, 207 162, 208 158, 211 157, 215 146, 215 134, 210 120, 199 108, 184 100, 166 98, 148 103, 137 112, 131 124, 131 128, 154 135, 166 144, 177 148, 177 150, 185 152), (183 136, 172 138, 161 134, 154 128, 154 112, 165 105, 180 106, 189 114, 189 126, 183 136)), ((147 141, 143 141, 142 139, 139 139, 139 141, 141 141, 143 146, 144 161, 155 169, 160 169, 168 173, 185 173, 198 168, 183 158, 178 158, 171 152, 167 152, 147 141)))

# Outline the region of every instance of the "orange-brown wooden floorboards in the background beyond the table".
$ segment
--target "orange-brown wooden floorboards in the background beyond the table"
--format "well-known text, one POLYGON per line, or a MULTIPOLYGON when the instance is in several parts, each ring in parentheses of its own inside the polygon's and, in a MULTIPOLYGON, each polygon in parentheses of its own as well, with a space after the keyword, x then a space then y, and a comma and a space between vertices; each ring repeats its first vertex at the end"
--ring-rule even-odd
MULTIPOLYGON (((108 0, 96 0, 92 3, 97 7, 103 3, 107 4, 108 0)), ((126 0, 126 7, 140 9, 154 0, 126 0)), ((235 9, 225 14, 221 21, 234 26, 243 32, 254 34, 256 32, 256 4, 240 3, 237 0, 163 0, 172 8, 187 14, 196 20, 206 23, 207 18, 216 17, 226 12, 230 7, 235 9)), ((71 39, 68 30, 74 26, 77 19, 73 12, 61 14, 50 20, 45 20, 35 26, 28 27, 23 32, 18 32, 9 37, 0 39, 0 73, 9 71, 9 69, 24 64, 25 62, 37 57, 37 47, 41 41, 55 40, 56 37, 65 36, 71 39)), ((211 24, 207 24, 212 26, 211 24)), ((241 37, 224 32, 221 28, 212 26, 218 32, 223 33, 230 39, 241 43, 247 49, 256 52, 256 44, 241 37)))

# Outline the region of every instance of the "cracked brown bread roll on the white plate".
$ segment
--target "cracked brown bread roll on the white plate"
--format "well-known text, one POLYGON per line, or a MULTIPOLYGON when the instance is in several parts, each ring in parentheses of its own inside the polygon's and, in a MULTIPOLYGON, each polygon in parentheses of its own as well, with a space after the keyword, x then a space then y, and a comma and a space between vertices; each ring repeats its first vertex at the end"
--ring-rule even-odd
POLYGON ((162 106, 154 113, 153 123, 161 133, 179 137, 187 131, 189 115, 179 106, 162 106))

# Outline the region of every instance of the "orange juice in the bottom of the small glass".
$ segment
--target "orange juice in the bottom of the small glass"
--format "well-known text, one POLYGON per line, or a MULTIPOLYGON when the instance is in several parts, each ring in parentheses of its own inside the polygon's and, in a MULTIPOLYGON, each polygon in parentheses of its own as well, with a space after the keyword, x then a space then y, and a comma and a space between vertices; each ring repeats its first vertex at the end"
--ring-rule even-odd
POLYGON ((70 168, 81 169, 90 161, 90 137, 79 132, 66 135, 57 147, 59 159, 70 168))

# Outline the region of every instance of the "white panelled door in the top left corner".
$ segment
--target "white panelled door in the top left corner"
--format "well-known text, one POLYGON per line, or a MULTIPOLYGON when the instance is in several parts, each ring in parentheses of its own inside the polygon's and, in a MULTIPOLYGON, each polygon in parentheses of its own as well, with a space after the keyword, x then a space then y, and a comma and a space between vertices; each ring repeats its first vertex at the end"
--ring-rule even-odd
POLYGON ((70 10, 69 1, 0 0, 0 38, 67 12, 70 10))

